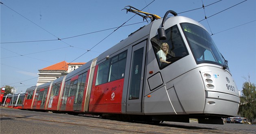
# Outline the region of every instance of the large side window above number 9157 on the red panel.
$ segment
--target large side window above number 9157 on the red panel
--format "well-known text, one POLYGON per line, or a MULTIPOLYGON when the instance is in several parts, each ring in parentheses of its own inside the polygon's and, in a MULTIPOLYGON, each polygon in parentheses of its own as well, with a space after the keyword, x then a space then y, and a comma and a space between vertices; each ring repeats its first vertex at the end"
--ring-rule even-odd
POLYGON ((127 51, 99 64, 95 85, 124 78, 127 51))

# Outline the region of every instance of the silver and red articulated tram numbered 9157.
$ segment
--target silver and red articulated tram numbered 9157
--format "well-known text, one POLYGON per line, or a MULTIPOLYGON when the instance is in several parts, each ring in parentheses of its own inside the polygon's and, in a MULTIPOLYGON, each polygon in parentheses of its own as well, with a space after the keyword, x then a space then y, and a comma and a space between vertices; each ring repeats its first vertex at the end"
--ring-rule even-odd
POLYGON ((221 118, 237 115, 239 103, 227 62, 206 28, 167 11, 66 76, 28 88, 23 109, 223 124, 221 118), (165 61, 158 54, 164 48, 165 61))

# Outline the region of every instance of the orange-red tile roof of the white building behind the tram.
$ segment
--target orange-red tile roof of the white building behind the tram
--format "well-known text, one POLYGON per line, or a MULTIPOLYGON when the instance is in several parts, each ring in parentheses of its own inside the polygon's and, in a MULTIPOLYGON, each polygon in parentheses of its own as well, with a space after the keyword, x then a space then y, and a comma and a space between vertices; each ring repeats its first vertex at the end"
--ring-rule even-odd
POLYGON ((85 63, 67 63, 66 61, 61 61, 60 63, 56 63, 54 65, 50 65, 49 67, 45 67, 39 70, 59 70, 59 71, 67 71, 68 65, 84 65, 85 63))

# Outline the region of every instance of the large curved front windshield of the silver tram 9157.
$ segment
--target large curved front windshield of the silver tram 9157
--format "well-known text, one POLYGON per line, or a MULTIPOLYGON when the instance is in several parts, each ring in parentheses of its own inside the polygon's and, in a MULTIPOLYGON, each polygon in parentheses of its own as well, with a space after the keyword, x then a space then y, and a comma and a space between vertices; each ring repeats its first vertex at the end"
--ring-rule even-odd
POLYGON ((228 67, 206 30, 190 23, 182 23, 181 27, 197 64, 210 63, 228 67))

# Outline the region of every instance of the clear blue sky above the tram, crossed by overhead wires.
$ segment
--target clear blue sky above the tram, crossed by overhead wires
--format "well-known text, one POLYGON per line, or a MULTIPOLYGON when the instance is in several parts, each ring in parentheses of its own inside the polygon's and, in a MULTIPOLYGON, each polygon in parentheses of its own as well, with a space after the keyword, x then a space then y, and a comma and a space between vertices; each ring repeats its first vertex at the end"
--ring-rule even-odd
POLYGON ((219 51, 228 60, 238 89, 242 90, 245 78, 249 80, 248 75, 250 81, 256 84, 256 0, 0 2, 3 3, 0 4, 1 87, 14 86, 18 92, 24 93, 28 87, 37 83, 39 69, 61 61, 88 62, 148 24, 138 15, 132 17, 133 13, 121 11, 128 5, 137 9, 145 8, 142 11, 160 17, 166 11, 173 10, 180 16, 190 17, 198 22, 202 20, 200 23, 213 34, 219 51), (204 9, 201 8, 202 4, 206 6, 204 9), (197 10, 190 11, 192 9, 197 10), (188 12, 182 13, 184 11, 188 12), (204 19, 205 16, 208 17, 207 20, 204 19), (113 32, 122 24, 123 27, 113 32))

